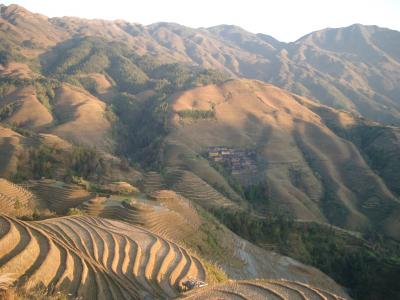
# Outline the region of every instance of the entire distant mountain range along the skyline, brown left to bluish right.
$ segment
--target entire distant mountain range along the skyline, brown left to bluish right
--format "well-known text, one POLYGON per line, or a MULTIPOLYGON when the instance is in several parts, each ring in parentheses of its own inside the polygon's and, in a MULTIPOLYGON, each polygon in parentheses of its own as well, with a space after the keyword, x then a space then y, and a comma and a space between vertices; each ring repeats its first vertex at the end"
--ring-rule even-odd
MULTIPOLYGON (((32 58, 74 37, 123 42, 134 53, 190 63, 273 83, 323 104, 400 124, 399 35, 354 24, 282 43, 236 26, 193 29, 173 23, 47 18, 16 5, 1 8, 4 60, 32 58), (22 55, 22 56, 21 56, 22 55)), ((58 47, 58 46, 57 46, 58 47)))

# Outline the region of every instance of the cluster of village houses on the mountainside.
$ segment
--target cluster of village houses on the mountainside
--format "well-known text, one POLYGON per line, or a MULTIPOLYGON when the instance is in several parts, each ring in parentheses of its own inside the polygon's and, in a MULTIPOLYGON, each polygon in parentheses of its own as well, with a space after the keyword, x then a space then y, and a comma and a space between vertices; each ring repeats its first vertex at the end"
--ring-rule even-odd
POLYGON ((232 175, 257 173, 255 150, 211 146, 208 147, 208 159, 214 162, 227 164, 232 170, 232 175))

